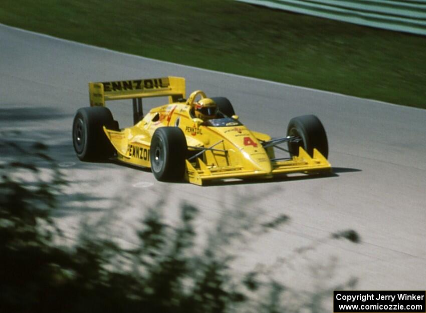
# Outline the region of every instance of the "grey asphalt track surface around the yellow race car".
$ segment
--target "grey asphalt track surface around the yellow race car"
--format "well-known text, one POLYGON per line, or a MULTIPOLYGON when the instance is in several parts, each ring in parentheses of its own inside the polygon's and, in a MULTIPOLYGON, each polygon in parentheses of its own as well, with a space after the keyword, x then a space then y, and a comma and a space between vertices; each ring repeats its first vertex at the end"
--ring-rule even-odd
MULTIPOLYGON (((350 277, 358 278, 357 289, 425 288, 426 110, 159 62, 6 26, 0 26, 0 81, 2 135, 23 145, 49 144, 72 181, 57 213, 70 232, 81 219, 106 214, 114 236, 131 242, 141 214, 160 199, 170 221, 182 201, 196 205, 201 230, 224 215, 232 228, 244 219, 256 223, 286 214, 287 224, 232 247, 240 255, 239 270, 284 257, 290 260, 274 277, 295 288, 333 288, 350 277), (168 75, 186 78, 187 95, 201 89, 228 97, 243 123, 274 137, 285 135, 292 117, 317 115, 328 134, 334 175, 198 187, 77 159, 72 120, 88 106, 89 81, 168 75), (235 212, 244 214, 233 217, 235 212), (357 231, 361 243, 329 239, 343 229, 357 231), (303 247, 316 248, 297 250, 303 247)), ((129 102, 109 107, 121 126, 131 123, 129 102)), ((20 157, 13 151, 1 155, 20 157)))

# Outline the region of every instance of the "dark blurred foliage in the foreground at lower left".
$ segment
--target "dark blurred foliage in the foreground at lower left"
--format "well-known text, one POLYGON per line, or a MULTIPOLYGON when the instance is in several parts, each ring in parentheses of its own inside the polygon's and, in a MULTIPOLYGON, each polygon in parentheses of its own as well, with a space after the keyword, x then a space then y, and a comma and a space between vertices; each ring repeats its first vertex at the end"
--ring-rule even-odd
MULTIPOLYGON (((0 149, 24 152, 10 142, 0 142, 0 149)), ((233 274, 233 255, 219 248, 228 240, 220 238, 220 229, 214 234, 219 241, 210 238, 197 252, 197 209, 187 204, 180 208, 177 226, 166 225, 149 208, 133 248, 93 237, 95 232, 83 232, 73 246, 60 246, 63 235, 51 213, 60 207, 57 198, 67 182, 46 149, 35 144, 25 150, 26 161, 0 165, 0 311, 281 313, 306 305, 320 311, 322 297, 329 296, 330 290, 318 290, 309 297, 314 302, 290 309, 282 299, 289 292, 283 284, 259 279, 262 273, 256 270, 233 274), (33 162, 40 160, 43 168, 33 162)), ((280 216, 261 228, 287 219, 280 216)), ((349 233, 333 236, 359 240, 349 233)))

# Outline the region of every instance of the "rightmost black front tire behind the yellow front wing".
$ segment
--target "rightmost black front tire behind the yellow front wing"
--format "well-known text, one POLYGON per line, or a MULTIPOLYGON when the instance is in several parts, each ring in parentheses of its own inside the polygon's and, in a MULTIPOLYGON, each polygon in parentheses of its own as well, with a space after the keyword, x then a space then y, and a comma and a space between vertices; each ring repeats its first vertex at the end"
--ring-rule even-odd
POLYGON ((299 155, 299 147, 312 157, 314 148, 321 154, 328 157, 328 141, 324 126, 315 115, 302 115, 290 120, 287 127, 287 136, 298 136, 302 140, 299 142, 290 141, 288 143, 290 155, 299 155))

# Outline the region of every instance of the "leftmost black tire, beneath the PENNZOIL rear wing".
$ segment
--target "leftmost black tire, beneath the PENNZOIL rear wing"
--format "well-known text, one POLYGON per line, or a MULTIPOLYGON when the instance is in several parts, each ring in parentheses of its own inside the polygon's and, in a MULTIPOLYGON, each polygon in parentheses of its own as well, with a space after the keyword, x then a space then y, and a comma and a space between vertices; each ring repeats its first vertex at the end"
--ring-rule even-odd
POLYGON ((82 161, 105 161, 115 149, 106 136, 103 126, 117 127, 111 111, 105 107, 87 107, 77 110, 73 122, 73 145, 82 161))

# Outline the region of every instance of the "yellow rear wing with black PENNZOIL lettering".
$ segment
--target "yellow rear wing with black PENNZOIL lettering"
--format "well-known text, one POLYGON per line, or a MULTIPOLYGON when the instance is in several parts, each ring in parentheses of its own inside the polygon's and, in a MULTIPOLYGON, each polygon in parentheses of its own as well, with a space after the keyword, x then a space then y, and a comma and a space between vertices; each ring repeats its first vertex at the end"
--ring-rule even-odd
POLYGON ((109 100, 163 96, 169 97, 169 103, 177 102, 179 98, 185 98, 185 79, 168 76, 152 79, 89 83, 91 107, 104 107, 105 101, 109 100))

